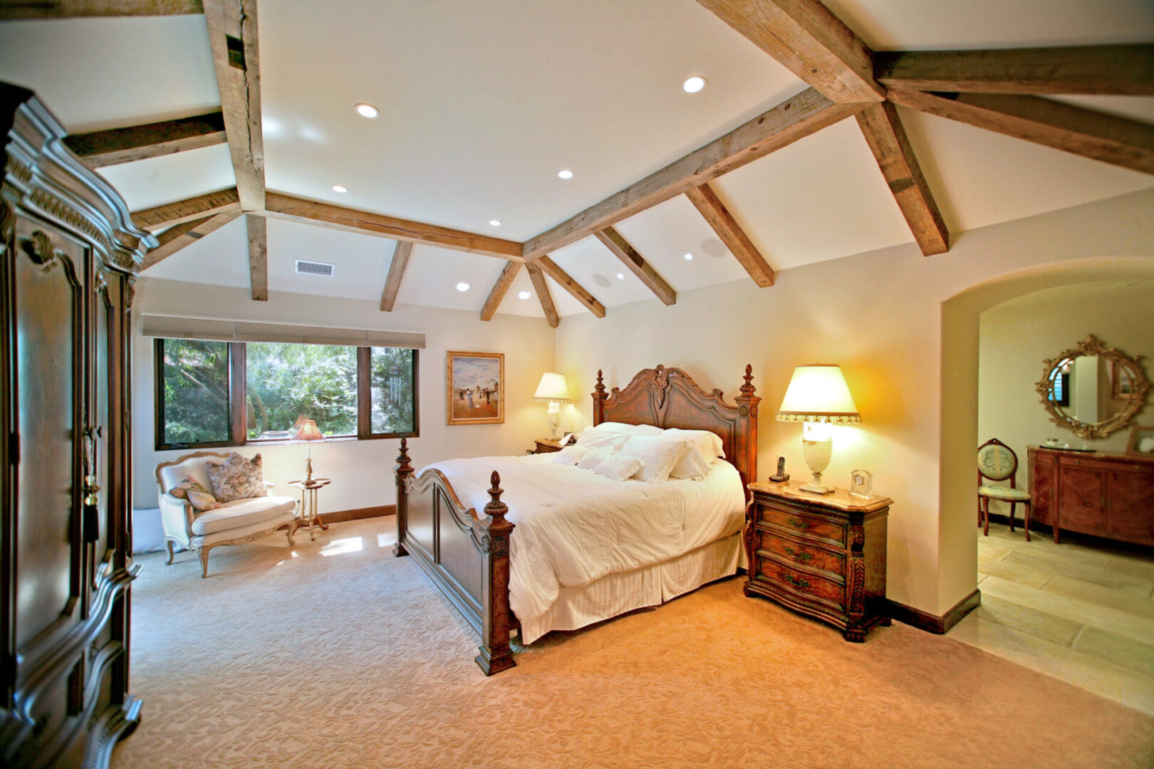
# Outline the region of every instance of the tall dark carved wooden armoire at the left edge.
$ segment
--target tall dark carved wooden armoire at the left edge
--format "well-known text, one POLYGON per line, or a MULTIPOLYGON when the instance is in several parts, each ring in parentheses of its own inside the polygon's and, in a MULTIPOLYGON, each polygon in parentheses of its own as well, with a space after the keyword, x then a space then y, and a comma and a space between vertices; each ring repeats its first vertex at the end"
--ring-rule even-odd
POLYGON ((0 766, 107 766, 128 693, 133 281, 156 239, 0 83, 0 766))

